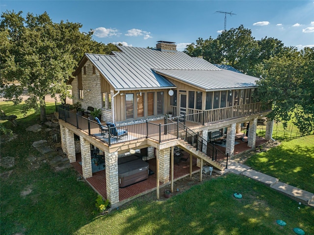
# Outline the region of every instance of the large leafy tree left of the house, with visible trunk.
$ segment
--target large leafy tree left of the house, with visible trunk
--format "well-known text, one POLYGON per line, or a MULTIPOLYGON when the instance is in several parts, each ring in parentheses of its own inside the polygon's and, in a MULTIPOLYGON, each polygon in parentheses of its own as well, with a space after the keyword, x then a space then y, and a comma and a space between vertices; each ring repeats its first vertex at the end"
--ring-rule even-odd
POLYGON ((23 111, 40 107, 40 119, 46 120, 45 96, 69 96, 66 81, 84 52, 105 53, 104 44, 92 40, 93 31, 82 33, 81 24, 53 23, 48 14, 34 16, 6 11, 1 15, 1 87, 4 97, 14 104, 22 102, 27 89, 30 97, 23 111))

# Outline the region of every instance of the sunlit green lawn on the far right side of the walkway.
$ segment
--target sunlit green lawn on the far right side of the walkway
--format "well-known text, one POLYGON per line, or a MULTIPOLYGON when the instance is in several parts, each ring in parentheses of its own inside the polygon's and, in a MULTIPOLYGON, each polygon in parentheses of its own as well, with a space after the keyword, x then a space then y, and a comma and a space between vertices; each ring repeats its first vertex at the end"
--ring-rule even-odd
POLYGON ((283 141, 268 152, 250 157, 245 164, 314 193, 314 135, 283 141))

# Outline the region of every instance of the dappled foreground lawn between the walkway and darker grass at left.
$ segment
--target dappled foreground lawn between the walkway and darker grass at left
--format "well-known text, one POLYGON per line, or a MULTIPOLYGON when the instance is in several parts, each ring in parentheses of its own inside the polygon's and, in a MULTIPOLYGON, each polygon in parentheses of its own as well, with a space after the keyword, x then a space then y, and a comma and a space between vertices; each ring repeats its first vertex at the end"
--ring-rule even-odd
POLYGON ((293 235, 294 227, 313 234, 314 210, 243 176, 229 174, 195 185, 163 202, 134 200, 99 217, 76 235, 293 235), (239 192, 242 199, 235 199, 239 192), (300 209, 298 209, 300 207, 300 209), (281 227, 281 219, 287 226, 281 227))

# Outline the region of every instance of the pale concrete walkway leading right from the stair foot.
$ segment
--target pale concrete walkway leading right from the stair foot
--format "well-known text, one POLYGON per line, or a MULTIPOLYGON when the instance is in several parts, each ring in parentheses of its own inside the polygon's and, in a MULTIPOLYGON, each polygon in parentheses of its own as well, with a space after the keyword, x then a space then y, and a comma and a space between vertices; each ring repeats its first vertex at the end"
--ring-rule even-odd
POLYGON ((277 178, 255 171, 250 167, 239 163, 238 161, 229 160, 228 169, 225 170, 225 173, 227 172, 232 172, 237 175, 244 175, 253 180, 264 183, 265 185, 287 195, 295 201, 301 202, 310 207, 314 207, 313 193, 293 187, 287 183, 282 183, 277 178))

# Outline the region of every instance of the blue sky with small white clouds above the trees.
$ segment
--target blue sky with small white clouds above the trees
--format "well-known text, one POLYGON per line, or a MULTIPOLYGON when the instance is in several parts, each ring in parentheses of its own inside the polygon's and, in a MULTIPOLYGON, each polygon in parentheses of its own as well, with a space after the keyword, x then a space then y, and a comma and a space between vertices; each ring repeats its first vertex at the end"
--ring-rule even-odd
POLYGON ((216 38, 243 25, 256 40, 273 37, 285 46, 314 47, 314 0, 0 0, 0 11, 41 15, 55 23, 82 24, 98 42, 156 47, 175 42, 178 51, 198 38, 216 38), (235 15, 233 15, 235 14, 235 15))

